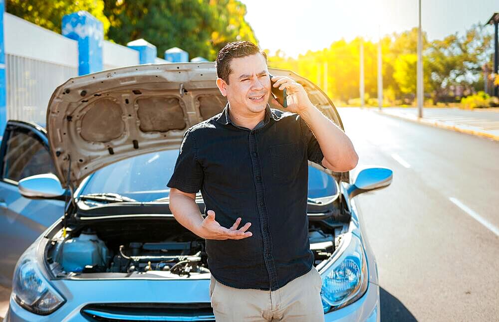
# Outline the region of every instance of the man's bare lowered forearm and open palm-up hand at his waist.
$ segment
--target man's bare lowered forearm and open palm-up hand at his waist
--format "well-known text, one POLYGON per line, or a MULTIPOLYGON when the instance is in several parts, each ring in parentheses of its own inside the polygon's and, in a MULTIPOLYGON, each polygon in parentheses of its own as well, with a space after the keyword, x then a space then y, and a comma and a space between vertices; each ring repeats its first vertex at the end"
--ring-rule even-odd
POLYGON ((177 221, 196 235, 205 239, 243 239, 250 237, 247 231, 251 223, 246 223, 238 229, 241 223, 239 217, 231 228, 222 227, 215 221, 215 211, 208 210, 203 219, 196 204, 196 193, 187 193, 176 188, 170 189, 170 210, 177 221))

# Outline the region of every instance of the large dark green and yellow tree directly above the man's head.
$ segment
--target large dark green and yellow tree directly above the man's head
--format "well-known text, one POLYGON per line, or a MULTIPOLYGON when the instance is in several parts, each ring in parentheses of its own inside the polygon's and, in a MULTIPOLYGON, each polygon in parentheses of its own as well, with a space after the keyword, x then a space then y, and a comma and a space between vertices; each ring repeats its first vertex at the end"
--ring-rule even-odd
POLYGON ((104 0, 111 26, 108 37, 125 45, 144 38, 165 50, 180 47, 189 57, 214 60, 227 42, 257 43, 244 19, 246 6, 237 0, 104 0))

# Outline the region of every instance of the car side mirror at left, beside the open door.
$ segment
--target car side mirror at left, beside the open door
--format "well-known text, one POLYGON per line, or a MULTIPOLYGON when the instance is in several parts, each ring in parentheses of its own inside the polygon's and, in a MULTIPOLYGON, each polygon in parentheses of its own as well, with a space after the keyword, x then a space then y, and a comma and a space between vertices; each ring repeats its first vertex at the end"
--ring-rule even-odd
POLYGON ((65 200, 69 193, 61 187, 59 179, 52 173, 25 177, 19 181, 17 187, 23 197, 31 199, 65 200))

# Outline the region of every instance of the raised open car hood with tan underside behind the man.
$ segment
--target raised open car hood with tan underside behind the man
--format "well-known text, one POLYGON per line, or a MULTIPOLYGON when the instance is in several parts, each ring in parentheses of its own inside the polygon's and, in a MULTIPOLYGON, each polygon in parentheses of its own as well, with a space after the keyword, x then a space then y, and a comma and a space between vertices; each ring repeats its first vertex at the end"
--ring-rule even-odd
MULTIPOLYGON (((301 83, 312 103, 343 128, 333 103, 312 82, 268 70, 301 83)), ((61 185, 77 187, 116 161, 179 149, 187 129, 226 106, 216 79, 214 62, 145 64, 70 78, 55 89, 47 109, 50 154, 61 185)))

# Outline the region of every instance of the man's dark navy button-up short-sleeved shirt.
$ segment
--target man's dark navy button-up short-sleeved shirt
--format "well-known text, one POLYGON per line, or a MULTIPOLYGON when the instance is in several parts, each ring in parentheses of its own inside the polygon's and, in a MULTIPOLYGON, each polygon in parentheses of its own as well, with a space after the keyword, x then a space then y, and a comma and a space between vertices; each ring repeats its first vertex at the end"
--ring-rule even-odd
POLYGON ((271 109, 250 130, 222 113, 184 135, 168 182, 187 193, 201 189, 205 214, 231 227, 251 222, 252 236, 206 240, 208 266, 222 284, 277 290, 312 268, 308 240, 308 162, 323 158, 315 136, 296 113, 271 109))

